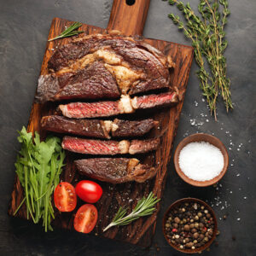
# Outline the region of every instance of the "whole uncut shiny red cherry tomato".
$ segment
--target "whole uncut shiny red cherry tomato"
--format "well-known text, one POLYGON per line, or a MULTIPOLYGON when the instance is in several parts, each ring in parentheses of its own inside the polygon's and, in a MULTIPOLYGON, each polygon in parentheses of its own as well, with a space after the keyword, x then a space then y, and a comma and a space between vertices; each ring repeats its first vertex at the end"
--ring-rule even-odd
POLYGON ((95 203, 102 197, 102 187, 90 180, 82 180, 76 186, 76 194, 83 201, 95 203))

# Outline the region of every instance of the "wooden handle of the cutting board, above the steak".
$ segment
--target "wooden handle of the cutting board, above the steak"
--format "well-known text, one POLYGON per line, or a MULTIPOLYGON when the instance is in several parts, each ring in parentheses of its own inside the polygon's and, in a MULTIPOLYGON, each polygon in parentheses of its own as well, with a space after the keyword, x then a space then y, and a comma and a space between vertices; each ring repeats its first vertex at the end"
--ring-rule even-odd
POLYGON ((108 30, 119 30, 127 36, 143 35, 150 0, 113 0, 108 30))

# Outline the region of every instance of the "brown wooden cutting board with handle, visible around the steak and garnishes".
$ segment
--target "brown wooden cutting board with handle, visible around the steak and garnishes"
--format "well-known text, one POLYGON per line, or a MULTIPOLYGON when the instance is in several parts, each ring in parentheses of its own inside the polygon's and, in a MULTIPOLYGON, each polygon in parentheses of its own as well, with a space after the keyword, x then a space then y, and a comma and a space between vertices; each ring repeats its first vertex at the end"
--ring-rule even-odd
MULTIPOLYGON (((128 2, 131 3, 132 1, 128 2)), ((148 13, 149 0, 137 0, 135 2, 136 3, 133 5, 127 5, 125 0, 113 1, 113 8, 108 22, 108 30, 116 29, 126 35, 142 36, 144 22, 148 13)), ((54 38, 59 35, 66 26, 70 26, 72 23, 73 21, 55 18, 52 20, 48 38, 54 38)), ((86 34, 106 32, 106 29, 85 24, 81 29, 85 31, 86 34)), ((47 63, 50 56, 53 54, 54 49, 63 44, 67 44, 70 40, 71 38, 65 38, 47 43, 40 74, 47 73, 47 63)), ((159 120, 160 122, 160 129, 155 129, 149 135, 149 137, 161 137, 160 148, 156 152, 148 154, 143 158, 145 163, 151 163, 158 167, 157 175, 145 183, 124 183, 117 185, 101 183, 103 195, 102 199, 96 203, 99 218, 96 228, 91 234, 105 236, 120 241, 128 241, 133 244, 148 247, 153 239, 157 213, 160 210, 160 203, 157 204, 154 214, 149 217, 139 218, 137 221, 126 226, 114 227, 105 233, 102 233, 102 229, 111 222, 114 214, 118 211, 119 206, 128 206, 131 209, 136 206, 137 200, 141 199, 143 195, 148 195, 152 190, 154 191, 154 195, 157 195, 159 198, 163 196, 163 190, 166 183, 167 164, 171 157, 173 140, 177 132, 178 120, 183 107, 184 93, 193 60, 193 48, 182 44, 174 44, 150 38, 145 38, 145 41, 155 48, 160 49, 164 54, 172 56, 172 60, 176 63, 176 67, 171 72, 171 81, 172 85, 177 86, 178 90, 180 90, 182 100, 174 108, 166 108, 157 110, 157 112, 153 111, 141 114, 144 118, 147 115, 151 117, 153 116, 155 120, 159 120)), ((41 130, 40 119, 44 115, 54 113, 56 106, 57 103, 52 102, 44 105, 34 102, 32 104, 27 131, 38 131, 41 137, 44 138, 46 134, 41 130)), ((73 166, 75 157, 76 154, 67 152, 67 166, 61 174, 61 179, 63 181, 73 184, 76 184, 81 178, 73 166)), ((9 215, 13 215, 22 199, 23 189, 20 186, 19 179, 15 177, 15 186, 9 205, 9 215)), ((54 227, 73 230, 74 214, 75 211, 61 213, 55 210, 54 227)), ((26 218, 26 206, 24 205, 21 207, 20 211, 15 216, 26 218)))

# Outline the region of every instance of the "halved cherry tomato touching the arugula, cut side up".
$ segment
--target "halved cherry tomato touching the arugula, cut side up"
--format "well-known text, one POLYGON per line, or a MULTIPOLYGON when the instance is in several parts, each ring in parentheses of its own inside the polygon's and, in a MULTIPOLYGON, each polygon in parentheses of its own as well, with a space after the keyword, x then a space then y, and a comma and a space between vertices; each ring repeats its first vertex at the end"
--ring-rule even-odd
POLYGON ((59 183, 54 194, 55 207, 61 212, 71 212, 77 206, 77 195, 70 183, 59 183))

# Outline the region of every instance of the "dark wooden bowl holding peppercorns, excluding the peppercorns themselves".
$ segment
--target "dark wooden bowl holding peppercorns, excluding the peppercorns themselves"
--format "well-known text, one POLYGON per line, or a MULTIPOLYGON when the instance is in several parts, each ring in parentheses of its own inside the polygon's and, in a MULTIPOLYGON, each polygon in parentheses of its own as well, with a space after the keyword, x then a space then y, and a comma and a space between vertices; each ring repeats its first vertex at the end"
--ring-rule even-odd
POLYGON ((183 199, 180 199, 180 200, 178 200, 178 201, 175 201, 175 202, 167 209, 167 211, 165 212, 165 215, 164 215, 164 218, 163 218, 163 222, 162 222, 162 230, 163 230, 164 236, 166 237, 166 241, 169 243, 170 246, 172 246, 172 247, 173 247, 174 249, 176 249, 177 251, 182 252, 182 253, 200 253, 200 252, 202 252, 203 250, 207 249, 207 247, 209 247, 209 246, 212 244, 212 241, 216 238, 216 234, 217 234, 217 230, 218 230, 217 218, 216 218, 216 216, 215 216, 215 213, 214 213, 213 210, 212 210, 212 207, 210 207, 209 205, 207 205, 206 202, 201 201, 200 199, 197 199, 197 198, 183 198, 183 199), (186 203, 186 202, 195 202, 195 203, 198 203, 198 204, 201 204, 202 206, 204 206, 204 207, 209 211, 209 213, 212 215, 213 223, 214 223, 214 228, 213 228, 213 230, 212 230, 213 233, 212 233, 212 238, 211 238, 211 240, 207 241, 207 243, 205 243, 203 246, 198 247, 198 248, 195 248, 195 250, 188 249, 188 248, 181 249, 180 247, 177 247, 177 245, 173 244, 173 243, 170 241, 170 239, 166 236, 165 225, 166 225, 166 220, 167 220, 167 218, 168 218, 168 213, 169 213, 174 207, 178 207, 178 206, 180 206, 181 204, 186 203))

